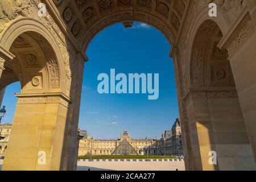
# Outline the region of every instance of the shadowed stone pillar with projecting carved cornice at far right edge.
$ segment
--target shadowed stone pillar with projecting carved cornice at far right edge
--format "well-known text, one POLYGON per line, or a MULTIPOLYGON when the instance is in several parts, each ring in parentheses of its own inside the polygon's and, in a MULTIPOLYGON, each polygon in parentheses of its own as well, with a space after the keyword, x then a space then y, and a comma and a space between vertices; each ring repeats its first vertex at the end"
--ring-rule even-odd
MULTIPOLYGON (((249 1, 248 1, 249 2, 249 1)), ((255 1, 250 1, 255 2, 255 1)), ((255 11, 255 5, 254 5, 255 11)), ((228 49, 230 65, 245 120, 247 134, 256 159, 256 33, 253 19, 245 14, 220 47, 228 49)), ((255 160, 256 162, 256 160, 255 160)))

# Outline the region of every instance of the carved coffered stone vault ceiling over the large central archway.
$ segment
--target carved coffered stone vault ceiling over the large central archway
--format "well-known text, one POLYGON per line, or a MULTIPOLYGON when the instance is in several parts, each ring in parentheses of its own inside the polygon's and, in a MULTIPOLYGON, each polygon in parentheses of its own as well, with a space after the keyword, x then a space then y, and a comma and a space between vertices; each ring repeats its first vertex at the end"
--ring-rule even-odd
POLYGON ((170 36, 175 40, 188 3, 188 0, 52 1, 67 25, 69 33, 77 42, 86 39, 86 34, 92 34, 87 40, 90 42, 98 31, 125 20, 151 24, 162 31, 167 38, 170 36), (104 19, 105 22, 102 23, 104 19), (101 28, 92 32, 94 26, 101 28))

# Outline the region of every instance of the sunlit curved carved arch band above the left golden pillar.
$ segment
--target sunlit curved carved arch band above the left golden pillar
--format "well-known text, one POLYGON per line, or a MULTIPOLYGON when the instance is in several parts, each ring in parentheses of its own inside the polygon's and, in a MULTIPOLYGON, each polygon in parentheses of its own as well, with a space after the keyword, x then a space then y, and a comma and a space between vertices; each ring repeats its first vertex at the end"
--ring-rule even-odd
MULTIPOLYGON (((30 39, 29 42, 38 42, 37 48, 40 48, 39 55, 44 53, 45 61, 45 73, 44 73, 44 88, 45 92, 64 92, 65 84, 61 84, 65 82, 65 68, 63 60, 63 53, 60 50, 59 42, 56 41, 55 38, 51 35, 48 28, 39 20, 31 19, 31 18, 23 18, 16 19, 10 26, 8 26, 0 37, 0 46, 5 48, 7 51, 14 50, 15 42, 24 41, 26 44, 26 40, 30 39)), ((22 47, 22 45, 20 45, 22 47)), ((35 45, 31 46, 34 47, 35 45)), ((24 46, 26 47, 26 46, 24 46)), ((28 46, 29 47, 29 46, 28 46)), ((20 47, 18 47, 20 48, 20 47)), ((36 52, 36 51, 34 51, 36 52)), ((33 53, 28 54, 27 56, 31 56, 31 59, 39 59, 38 55, 33 55, 33 53), (33 58, 34 57, 34 58, 33 58)), ((19 56, 19 59, 22 56, 19 56)), ((24 56, 23 56, 24 57, 24 56)), ((8 60, 5 63, 8 68, 12 69, 15 72, 16 76, 19 78, 19 81, 24 82, 23 85, 26 85, 26 79, 23 80, 22 66, 20 61, 17 61, 17 56, 14 57, 13 60, 8 60), (15 65, 16 68, 13 67, 15 65)), ((43 65, 42 65, 43 66, 43 65)), ((34 80, 37 80, 38 77, 35 77, 34 80)))

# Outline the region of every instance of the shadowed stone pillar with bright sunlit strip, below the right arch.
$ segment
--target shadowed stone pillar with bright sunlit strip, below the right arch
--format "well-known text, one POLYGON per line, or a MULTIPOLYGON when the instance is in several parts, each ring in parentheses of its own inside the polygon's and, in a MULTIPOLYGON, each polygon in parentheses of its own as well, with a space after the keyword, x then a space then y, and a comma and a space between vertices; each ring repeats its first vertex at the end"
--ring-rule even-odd
POLYGON ((255 169, 236 91, 195 91, 187 97, 192 169, 255 169), (209 163, 211 151, 217 154, 216 165, 209 163))

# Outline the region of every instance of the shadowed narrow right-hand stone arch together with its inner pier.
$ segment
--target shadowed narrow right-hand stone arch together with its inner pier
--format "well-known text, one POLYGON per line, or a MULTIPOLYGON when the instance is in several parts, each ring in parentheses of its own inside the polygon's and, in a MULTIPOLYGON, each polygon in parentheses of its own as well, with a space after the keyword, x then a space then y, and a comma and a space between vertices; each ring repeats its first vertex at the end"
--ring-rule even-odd
MULTIPOLYGON (((188 89, 184 97, 189 142, 183 143, 190 169, 243 169, 238 160, 255 168, 245 122, 238 100, 228 51, 217 47, 223 37, 213 20, 204 20, 192 36, 188 61, 188 89), (208 163, 209 152, 217 152, 217 164, 208 163), (233 165, 227 165, 233 163, 233 165)), ((188 138, 188 137, 187 137, 188 138)))

